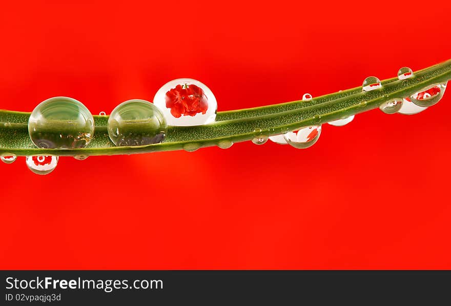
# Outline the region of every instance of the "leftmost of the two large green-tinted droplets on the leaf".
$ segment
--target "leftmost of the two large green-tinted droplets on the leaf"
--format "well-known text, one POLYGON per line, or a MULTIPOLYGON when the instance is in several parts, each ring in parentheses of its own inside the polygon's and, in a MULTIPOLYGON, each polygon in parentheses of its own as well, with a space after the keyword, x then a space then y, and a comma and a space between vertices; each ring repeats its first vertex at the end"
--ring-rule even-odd
POLYGON ((79 101, 53 97, 34 108, 28 120, 28 133, 39 148, 84 148, 94 135, 94 118, 79 101))

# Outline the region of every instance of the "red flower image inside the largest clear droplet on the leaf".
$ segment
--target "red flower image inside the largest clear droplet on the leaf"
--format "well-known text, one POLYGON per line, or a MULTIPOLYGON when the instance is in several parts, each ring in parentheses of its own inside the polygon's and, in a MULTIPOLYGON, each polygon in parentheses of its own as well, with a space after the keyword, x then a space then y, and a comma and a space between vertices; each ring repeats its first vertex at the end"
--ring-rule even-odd
POLYGON ((205 114, 208 109, 207 96, 193 84, 177 85, 166 93, 165 99, 166 107, 171 109, 171 114, 176 118, 205 114))

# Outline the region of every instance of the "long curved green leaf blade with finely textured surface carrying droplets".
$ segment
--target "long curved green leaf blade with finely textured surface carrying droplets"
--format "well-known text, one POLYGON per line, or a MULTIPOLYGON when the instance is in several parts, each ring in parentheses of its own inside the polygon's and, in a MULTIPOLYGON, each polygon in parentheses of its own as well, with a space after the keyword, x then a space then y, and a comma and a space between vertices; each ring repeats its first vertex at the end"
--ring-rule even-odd
POLYGON ((108 137, 108 116, 94 116, 94 139, 84 149, 38 149, 28 136, 30 113, 0 111, 0 154, 20 155, 112 155, 170 150, 193 150, 216 146, 219 142, 251 140, 255 131, 276 135, 313 124, 323 124, 350 115, 378 108, 385 101, 403 98, 434 84, 451 79, 451 60, 420 71, 405 80, 382 81, 382 88, 361 92, 361 87, 328 94, 309 102, 293 101, 253 109, 219 112, 217 121, 197 127, 168 127, 168 134, 160 144, 140 147, 116 147, 108 137))

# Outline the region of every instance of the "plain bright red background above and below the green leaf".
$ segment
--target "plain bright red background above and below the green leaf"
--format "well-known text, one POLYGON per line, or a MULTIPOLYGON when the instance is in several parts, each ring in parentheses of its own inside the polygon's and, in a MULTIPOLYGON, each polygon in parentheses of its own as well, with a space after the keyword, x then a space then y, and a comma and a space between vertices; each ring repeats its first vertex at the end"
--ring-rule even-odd
MULTIPOLYGON (((3 3, 0 108, 65 95, 93 114, 178 77, 218 110, 360 86, 451 57, 451 3, 3 3)), ((2 269, 449 269, 451 98, 268 142, 0 163, 2 269)))

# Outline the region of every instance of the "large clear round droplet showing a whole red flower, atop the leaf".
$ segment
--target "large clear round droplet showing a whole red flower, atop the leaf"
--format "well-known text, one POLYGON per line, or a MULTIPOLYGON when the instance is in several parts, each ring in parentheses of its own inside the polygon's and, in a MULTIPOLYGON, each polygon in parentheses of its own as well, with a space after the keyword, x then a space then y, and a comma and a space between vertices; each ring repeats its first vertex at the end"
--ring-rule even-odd
POLYGON ((163 85, 153 103, 170 126, 199 126, 216 119, 217 102, 213 92, 192 78, 178 78, 163 85))

